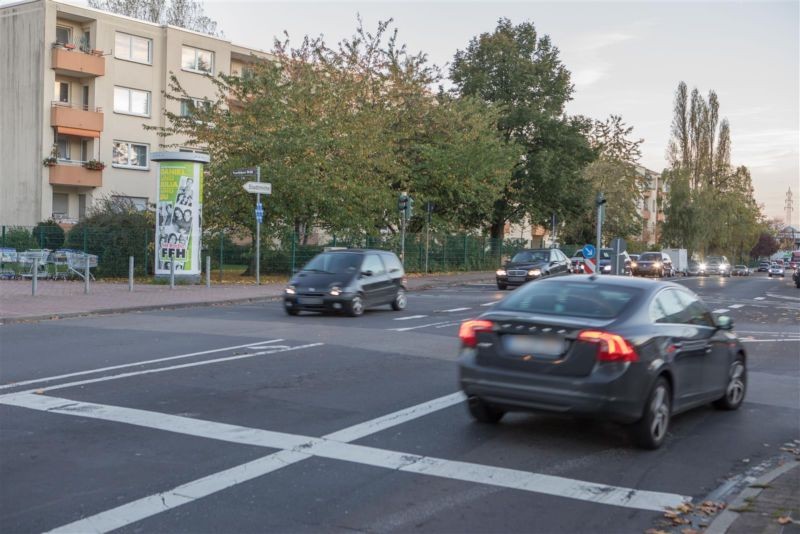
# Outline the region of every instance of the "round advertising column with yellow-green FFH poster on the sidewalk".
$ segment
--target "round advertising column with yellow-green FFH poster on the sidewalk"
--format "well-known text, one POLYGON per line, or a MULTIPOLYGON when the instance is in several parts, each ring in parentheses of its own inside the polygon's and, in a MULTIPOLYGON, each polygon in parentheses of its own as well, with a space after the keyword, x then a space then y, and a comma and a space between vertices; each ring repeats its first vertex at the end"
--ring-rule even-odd
POLYGON ((203 165, 207 154, 155 152, 159 164, 155 273, 199 282, 203 235, 203 165))

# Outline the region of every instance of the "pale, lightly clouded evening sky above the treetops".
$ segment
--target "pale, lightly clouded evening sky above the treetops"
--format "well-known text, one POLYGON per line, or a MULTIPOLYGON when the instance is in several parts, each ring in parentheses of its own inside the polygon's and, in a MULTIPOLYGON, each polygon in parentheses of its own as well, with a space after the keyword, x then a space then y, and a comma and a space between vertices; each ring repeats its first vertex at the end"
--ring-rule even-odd
MULTIPOLYGON (((3 3, 0 1, 0 3, 3 3)), ((75 3, 84 3, 77 1, 75 3)), ((269 50, 275 37, 324 35, 329 43, 393 19, 401 43, 448 72, 457 50, 501 17, 533 22, 559 48, 575 85, 567 113, 622 116, 644 139, 640 163, 667 166, 680 81, 716 91, 731 124, 734 165, 752 173, 769 218, 800 226, 800 2, 283 1, 205 0, 206 14, 234 43, 269 50)), ((445 83, 445 85, 449 85, 445 83)))

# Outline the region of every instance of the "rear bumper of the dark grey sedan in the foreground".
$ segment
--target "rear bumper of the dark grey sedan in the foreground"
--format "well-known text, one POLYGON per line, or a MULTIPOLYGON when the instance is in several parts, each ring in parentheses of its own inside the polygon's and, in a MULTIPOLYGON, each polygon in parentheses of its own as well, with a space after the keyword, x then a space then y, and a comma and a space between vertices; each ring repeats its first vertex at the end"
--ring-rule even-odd
POLYGON ((459 382, 467 396, 476 396, 510 411, 583 415, 632 423, 641 418, 647 376, 631 364, 596 368, 587 377, 531 375, 479 365, 475 352, 459 357, 459 382))

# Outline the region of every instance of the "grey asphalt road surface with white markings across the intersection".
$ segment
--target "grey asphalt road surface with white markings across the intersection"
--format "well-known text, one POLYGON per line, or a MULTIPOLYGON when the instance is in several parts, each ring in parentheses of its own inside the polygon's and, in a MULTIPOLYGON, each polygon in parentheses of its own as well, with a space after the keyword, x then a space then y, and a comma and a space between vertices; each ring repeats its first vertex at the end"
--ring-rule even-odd
POLYGON ((272 302, 2 326, 0 529, 644 532, 800 438, 791 278, 679 283, 735 319, 749 391, 654 452, 583 419, 472 422, 456 333, 507 294, 489 285, 358 319, 272 302))

